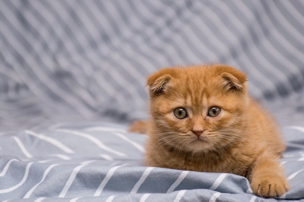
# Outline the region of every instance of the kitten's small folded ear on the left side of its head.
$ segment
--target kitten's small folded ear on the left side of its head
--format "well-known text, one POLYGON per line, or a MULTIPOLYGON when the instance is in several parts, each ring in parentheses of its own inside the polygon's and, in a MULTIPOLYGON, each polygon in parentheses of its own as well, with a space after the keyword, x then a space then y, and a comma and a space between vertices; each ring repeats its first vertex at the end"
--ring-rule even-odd
POLYGON ((169 87, 169 81, 172 77, 169 74, 159 76, 158 74, 153 74, 148 77, 147 85, 150 87, 151 95, 159 95, 164 93, 169 87))

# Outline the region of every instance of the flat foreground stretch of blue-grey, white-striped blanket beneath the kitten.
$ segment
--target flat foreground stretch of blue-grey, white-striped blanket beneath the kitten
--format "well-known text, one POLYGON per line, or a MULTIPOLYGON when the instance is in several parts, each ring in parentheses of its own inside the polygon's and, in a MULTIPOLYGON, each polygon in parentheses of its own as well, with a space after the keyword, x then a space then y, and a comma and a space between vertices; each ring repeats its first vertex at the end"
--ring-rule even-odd
MULTIPOLYGON (((281 159, 291 189, 304 198, 304 127, 283 130, 281 159)), ((145 135, 115 124, 56 124, 0 136, 0 199, 24 202, 276 201, 253 195, 246 178, 143 167, 145 135)))

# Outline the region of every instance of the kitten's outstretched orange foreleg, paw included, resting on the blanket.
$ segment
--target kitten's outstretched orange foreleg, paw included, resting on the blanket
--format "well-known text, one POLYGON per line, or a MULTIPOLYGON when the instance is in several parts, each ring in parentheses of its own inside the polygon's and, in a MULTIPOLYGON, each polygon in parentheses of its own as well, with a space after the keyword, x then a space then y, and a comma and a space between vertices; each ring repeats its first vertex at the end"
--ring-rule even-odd
POLYGON ((261 197, 277 197, 289 189, 283 169, 277 158, 259 158, 253 166, 249 181, 253 192, 261 197))

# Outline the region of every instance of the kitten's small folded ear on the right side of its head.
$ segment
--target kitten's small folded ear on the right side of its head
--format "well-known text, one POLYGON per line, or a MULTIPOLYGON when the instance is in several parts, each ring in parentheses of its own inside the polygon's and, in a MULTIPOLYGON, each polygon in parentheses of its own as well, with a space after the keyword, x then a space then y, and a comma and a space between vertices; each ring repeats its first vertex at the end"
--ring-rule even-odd
POLYGON ((221 73, 220 76, 223 79, 224 89, 227 91, 243 91, 244 84, 246 82, 246 75, 237 71, 232 75, 228 72, 221 73))

